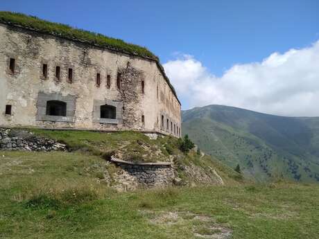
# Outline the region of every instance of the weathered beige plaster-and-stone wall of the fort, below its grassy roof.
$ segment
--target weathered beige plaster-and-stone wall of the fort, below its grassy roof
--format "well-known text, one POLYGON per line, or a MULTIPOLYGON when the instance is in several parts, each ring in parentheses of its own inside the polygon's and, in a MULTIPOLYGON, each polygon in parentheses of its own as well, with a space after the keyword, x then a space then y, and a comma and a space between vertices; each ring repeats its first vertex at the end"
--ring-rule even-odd
POLYGON ((171 124, 180 128, 180 103, 153 60, 0 24, 0 125, 171 134, 171 124), (9 70, 10 57, 15 58, 15 73, 9 70), (46 78, 42 76, 42 64, 48 66, 46 78), (55 67, 60 67, 60 80, 55 78, 55 67), (71 83, 69 68, 73 69, 71 83), (97 73, 100 86, 96 85, 97 73), (118 73, 121 89, 117 87, 118 73), (43 116, 39 95, 46 100, 60 96, 74 102, 69 108, 74 112, 72 120, 43 116), (123 118, 98 121, 94 102, 110 101, 123 104, 117 109, 123 118), (12 105, 12 115, 4 114, 6 105, 12 105), (162 115, 165 122, 169 119, 169 129, 161 127, 162 115))

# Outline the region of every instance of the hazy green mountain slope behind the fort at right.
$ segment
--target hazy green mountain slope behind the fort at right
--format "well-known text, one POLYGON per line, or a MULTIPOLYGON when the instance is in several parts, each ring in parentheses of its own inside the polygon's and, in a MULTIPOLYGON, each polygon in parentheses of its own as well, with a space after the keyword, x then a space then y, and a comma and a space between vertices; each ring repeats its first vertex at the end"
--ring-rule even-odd
POLYGON ((183 134, 200 149, 260 181, 319 182, 319 118, 209 105, 182 112, 183 134))

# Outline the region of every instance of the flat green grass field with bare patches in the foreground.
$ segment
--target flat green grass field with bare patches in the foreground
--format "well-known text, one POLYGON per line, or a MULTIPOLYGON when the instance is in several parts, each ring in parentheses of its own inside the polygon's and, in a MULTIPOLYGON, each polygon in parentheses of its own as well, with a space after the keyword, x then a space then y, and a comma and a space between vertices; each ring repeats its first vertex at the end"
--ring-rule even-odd
POLYGON ((0 238, 317 238, 319 186, 118 193, 83 152, 0 153, 0 238), (223 237, 224 236, 224 237, 223 237), (216 237, 215 237, 216 238, 216 237))

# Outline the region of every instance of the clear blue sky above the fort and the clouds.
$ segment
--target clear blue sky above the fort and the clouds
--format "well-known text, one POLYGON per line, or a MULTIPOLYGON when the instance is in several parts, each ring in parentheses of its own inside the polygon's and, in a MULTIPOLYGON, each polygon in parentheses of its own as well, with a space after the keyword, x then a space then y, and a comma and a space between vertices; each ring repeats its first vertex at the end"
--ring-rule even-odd
MULTIPOLYGON (((316 0, 1 0, 0 10, 24 12, 143 45, 163 64, 192 55, 206 75, 218 78, 234 64, 262 62, 272 53, 306 48, 319 39, 316 0)), ((184 108, 200 105, 187 97, 180 93, 184 108)))

